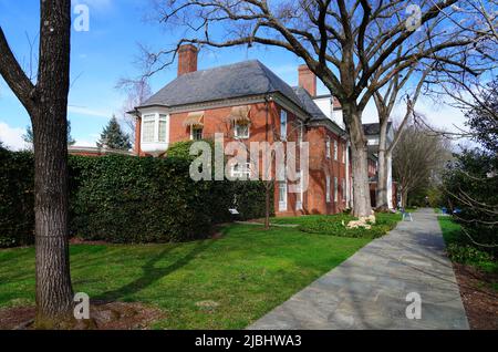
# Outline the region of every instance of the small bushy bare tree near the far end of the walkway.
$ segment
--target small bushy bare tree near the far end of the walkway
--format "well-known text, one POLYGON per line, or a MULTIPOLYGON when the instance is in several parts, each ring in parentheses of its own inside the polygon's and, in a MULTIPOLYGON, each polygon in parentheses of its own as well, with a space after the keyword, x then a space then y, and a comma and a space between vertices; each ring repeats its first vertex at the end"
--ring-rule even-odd
POLYGON ((450 159, 449 141, 427 132, 407 126, 393 152, 393 173, 400 183, 403 207, 407 206, 408 194, 427 185, 450 159))

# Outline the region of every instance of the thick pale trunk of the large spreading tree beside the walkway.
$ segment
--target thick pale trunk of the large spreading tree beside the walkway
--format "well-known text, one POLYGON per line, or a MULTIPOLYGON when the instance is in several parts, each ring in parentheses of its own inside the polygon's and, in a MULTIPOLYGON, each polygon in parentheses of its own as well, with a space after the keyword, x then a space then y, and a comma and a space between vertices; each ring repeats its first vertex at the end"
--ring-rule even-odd
POLYGON ((361 112, 353 104, 343 104, 344 122, 351 138, 351 165, 353 170, 353 216, 372 215, 369 187, 367 144, 363 132, 361 112))

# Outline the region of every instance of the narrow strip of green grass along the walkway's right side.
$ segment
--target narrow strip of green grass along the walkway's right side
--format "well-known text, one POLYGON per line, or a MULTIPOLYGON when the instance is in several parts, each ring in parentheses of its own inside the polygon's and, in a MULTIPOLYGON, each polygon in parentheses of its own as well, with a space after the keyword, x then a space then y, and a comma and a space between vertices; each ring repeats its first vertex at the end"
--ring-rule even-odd
POLYGON ((448 256, 453 261, 469 265, 487 272, 498 272, 498 262, 487 252, 471 246, 450 216, 438 216, 439 226, 446 242, 448 256))

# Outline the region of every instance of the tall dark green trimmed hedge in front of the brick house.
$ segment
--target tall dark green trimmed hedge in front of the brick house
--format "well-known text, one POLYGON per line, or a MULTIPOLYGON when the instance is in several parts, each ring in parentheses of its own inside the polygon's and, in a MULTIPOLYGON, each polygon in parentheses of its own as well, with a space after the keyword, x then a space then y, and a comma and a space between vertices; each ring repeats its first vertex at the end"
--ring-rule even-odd
MULTIPOLYGON (((1 152, 0 247, 33 244, 33 156, 1 152)), ((194 182, 179 157, 70 156, 70 231, 86 240, 203 239, 219 222, 264 214, 259 182, 194 182)))

